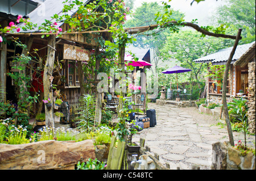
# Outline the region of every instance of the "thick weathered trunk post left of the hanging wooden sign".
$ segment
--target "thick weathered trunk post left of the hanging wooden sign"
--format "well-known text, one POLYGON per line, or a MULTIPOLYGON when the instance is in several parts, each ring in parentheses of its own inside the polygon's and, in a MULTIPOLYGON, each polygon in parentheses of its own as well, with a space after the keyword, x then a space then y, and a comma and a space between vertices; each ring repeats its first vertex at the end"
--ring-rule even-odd
POLYGON ((48 127, 54 127, 53 121, 53 91, 52 91, 52 70, 53 64, 55 60, 55 35, 50 35, 48 37, 48 51, 46 58, 46 65, 44 66, 44 77, 43 77, 43 85, 44 85, 44 100, 50 98, 52 106, 50 108, 46 107, 44 104, 46 111, 46 125, 48 127))

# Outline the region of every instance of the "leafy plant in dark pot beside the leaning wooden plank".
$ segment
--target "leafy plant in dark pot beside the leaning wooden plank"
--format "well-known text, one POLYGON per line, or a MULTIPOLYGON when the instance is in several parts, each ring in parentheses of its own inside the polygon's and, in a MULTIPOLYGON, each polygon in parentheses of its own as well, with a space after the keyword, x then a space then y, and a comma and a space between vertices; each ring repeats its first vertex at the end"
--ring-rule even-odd
POLYGON ((132 142, 133 140, 133 135, 135 133, 137 133, 137 129, 139 126, 135 124, 135 120, 131 121, 130 127, 128 129, 128 133, 127 133, 127 150, 129 152, 137 152, 139 151, 139 148, 141 148, 141 146, 135 144, 134 142, 132 142))

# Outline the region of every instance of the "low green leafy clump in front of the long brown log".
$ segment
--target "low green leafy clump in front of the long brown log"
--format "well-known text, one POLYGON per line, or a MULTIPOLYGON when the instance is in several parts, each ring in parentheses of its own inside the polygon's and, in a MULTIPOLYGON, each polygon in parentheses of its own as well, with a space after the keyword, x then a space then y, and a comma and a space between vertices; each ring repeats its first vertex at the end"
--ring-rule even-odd
POLYGON ((106 167, 106 164, 104 162, 100 162, 95 159, 89 158, 86 162, 78 162, 77 163, 77 170, 104 170, 106 167))

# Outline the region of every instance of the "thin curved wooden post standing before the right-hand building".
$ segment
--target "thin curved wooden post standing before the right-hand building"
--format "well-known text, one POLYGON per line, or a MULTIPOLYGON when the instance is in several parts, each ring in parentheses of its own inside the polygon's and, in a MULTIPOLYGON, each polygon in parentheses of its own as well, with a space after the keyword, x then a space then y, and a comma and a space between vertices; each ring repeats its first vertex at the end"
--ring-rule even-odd
POLYGON ((234 53, 236 51, 238 41, 240 39, 241 31, 242 31, 242 29, 238 30, 236 41, 234 43, 234 47, 232 49, 232 52, 230 53, 228 61, 226 62, 224 80, 223 80, 223 85, 222 85, 222 102, 223 102, 223 107, 224 107, 224 116, 225 116, 225 121, 226 121, 227 129, 228 129, 228 134, 229 134, 229 142, 232 146, 234 146, 234 138, 233 138, 232 128, 231 128, 231 124, 230 124, 230 120, 229 120, 228 104, 226 103, 226 85, 228 83, 229 66, 230 66, 230 63, 234 56, 234 53))

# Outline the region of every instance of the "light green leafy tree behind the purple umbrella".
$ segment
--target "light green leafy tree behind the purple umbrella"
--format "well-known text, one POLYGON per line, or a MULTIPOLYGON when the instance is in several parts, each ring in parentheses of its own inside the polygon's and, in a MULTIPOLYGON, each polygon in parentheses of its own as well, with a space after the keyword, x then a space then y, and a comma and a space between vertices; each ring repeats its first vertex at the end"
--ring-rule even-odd
MULTIPOLYGON (((179 33, 166 33, 166 37, 167 40, 164 43, 164 47, 159 50, 160 58, 163 61, 175 58, 181 62, 181 66, 191 69, 197 85, 201 90, 199 74, 202 68, 205 68, 205 64, 197 64, 193 60, 224 48, 224 45, 221 43, 222 39, 202 37, 200 33, 192 30, 180 31, 179 33)), ((201 91, 199 94, 201 94, 201 91)))

